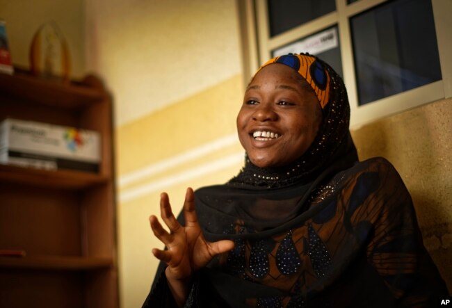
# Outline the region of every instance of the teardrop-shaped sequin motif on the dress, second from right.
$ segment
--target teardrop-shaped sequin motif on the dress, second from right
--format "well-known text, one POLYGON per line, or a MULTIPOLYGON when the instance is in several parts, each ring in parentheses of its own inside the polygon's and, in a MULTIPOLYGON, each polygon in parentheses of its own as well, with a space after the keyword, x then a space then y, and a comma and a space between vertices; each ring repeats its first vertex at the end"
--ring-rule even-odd
POLYGON ((291 275, 297 273, 301 265, 300 255, 292 241, 292 231, 284 237, 276 252, 276 265, 280 273, 291 275))

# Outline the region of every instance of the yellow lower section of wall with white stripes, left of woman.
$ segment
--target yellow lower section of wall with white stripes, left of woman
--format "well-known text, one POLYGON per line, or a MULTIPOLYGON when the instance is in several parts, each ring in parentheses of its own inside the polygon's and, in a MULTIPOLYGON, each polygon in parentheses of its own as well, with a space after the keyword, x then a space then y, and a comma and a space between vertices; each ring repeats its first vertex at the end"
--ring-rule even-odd
POLYGON ((156 270, 147 218, 159 216, 159 195, 168 192, 175 213, 187 186, 224 183, 243 162, 234 118, 241 105, 235 76, 160 111, 129 122, 118 133, 118 223, 123 307, 143 303, 156 270))

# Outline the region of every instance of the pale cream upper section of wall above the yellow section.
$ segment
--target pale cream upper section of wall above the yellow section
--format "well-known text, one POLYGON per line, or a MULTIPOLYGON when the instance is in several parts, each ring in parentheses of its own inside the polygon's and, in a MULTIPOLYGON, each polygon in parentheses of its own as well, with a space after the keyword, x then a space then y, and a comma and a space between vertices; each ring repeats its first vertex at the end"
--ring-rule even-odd
POLYGON ((234 0, 86 1, 88 67, 118 127, 241 74, 234 0))

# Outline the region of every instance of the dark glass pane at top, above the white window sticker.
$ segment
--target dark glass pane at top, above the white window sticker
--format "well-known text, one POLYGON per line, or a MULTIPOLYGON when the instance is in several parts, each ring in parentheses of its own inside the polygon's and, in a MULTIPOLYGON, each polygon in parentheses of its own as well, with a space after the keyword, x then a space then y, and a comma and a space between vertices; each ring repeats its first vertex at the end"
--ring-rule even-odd
POLYGON ((271 37, 336 10, 334 0, 268 0, 267 4, 271 37))

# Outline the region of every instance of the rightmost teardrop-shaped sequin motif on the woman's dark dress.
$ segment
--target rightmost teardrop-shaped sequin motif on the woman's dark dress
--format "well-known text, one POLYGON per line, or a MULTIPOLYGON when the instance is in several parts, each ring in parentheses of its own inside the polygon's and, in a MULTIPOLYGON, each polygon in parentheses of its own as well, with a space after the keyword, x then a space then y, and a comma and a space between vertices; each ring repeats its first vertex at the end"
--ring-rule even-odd
POLYGON ((331 257, 328 249, 323 243, 322 239, 311 224, 308 225, 308 254, 311 260, 312 268, 318 278, 323 278, 327 275, 331 267, 331 257))

